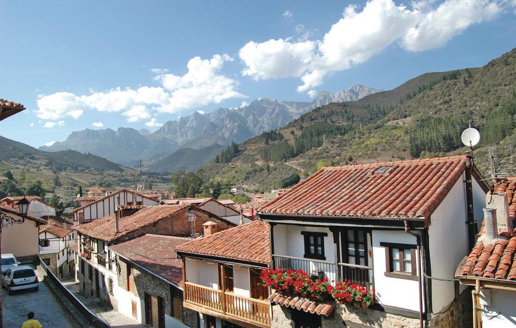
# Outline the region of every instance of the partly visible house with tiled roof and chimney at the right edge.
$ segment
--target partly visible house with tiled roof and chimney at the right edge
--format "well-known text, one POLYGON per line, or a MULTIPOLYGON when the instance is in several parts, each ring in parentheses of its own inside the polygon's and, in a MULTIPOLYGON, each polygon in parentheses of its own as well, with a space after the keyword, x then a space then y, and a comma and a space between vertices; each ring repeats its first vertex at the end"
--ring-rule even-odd
POLYGON ((477 244, 464 257, 455 277, 472 286, 473 326, 516 324, 516 178, 495 182, 486 197, 485 218, 477 244))

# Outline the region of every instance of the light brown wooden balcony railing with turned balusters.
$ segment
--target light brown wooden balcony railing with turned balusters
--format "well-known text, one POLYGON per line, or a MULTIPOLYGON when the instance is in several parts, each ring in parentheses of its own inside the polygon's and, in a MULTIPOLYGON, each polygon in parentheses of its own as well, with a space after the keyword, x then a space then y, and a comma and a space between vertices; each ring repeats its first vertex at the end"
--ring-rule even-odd
POLYGON ((250 323, 247 326, 270 327, 271 312, 270 302, 268 301, 185 282, 184 303, 185 307, 201 313, 213 315, 213 312, 215 312, 222 315, 219 316, 222 319, 238 320, 236 323, 240 325, 246 326, 244 323, 250 323), (206 310, 203 311, 203 309, 206 310))

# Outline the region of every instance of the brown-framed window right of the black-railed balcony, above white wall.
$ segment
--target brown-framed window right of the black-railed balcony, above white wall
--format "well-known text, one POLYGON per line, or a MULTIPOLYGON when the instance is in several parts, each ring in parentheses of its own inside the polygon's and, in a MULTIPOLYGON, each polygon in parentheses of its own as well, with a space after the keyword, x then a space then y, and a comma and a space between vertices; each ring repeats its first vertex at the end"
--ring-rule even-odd
POLYGON ((385 247, 385 277, 417 280, 415 245, 380 243, 385 247))

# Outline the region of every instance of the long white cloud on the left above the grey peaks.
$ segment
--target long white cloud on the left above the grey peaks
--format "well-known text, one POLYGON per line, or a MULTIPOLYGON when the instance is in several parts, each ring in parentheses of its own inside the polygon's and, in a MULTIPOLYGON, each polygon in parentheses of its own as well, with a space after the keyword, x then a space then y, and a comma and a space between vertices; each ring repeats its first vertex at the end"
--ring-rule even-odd
MULTIPOLYGON (((122 111, 128 122, 137 122, 149 118, 151 111, 174 113, 230 98, 247 98, 236 91, 238 81, 220 74, 226 61, 233 61, 233 58, 225 54, 204 60, 194 57, 188 61, 188 72, 183 76, 155 76, 154 80, 160 81, 163 87, 115 88, 80 96, 69 92, 40 95, 37 115, 49 120, 78 118, 85 110, 94 109, 100 112, 122 111)), ((167 72, 163 68, 151 71, 167 72)))

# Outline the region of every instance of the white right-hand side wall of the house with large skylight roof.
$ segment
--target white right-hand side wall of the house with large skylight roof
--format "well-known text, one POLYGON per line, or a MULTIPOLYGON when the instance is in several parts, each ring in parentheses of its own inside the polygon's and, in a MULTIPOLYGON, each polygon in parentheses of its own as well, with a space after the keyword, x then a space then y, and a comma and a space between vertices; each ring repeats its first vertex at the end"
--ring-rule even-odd
MULTIPOLYGON (((454 279, 455 270, 469 254, 464 174, 431 215, 428 229, 432 277, 454 279)), ((465 289, 460 287, 462 292, 465 289)), ((432 280, 432 312, 440 312, 455 299, 454 282, 432 280)))

